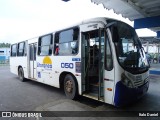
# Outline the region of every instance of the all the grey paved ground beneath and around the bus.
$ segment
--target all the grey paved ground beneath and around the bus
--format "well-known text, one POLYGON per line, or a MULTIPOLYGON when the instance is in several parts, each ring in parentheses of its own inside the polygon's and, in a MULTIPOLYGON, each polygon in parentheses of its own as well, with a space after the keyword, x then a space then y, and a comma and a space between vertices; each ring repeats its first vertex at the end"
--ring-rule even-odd
MULTIPOLYGON (((116 108, 85 97, 80 97, 77 101, 68 100, 60 89, 31 80, 21 82, 16 75, 9 72, 9 67, 0 67, 0 111, 34 111, 42 109, 50 111, 160 111, 160 77, 151 76, 148 93, 137 103, 123 108, 116 108)), ((119 118, 112 117, 108 119, 119 120, 119 118)), ((121 119, 124 120, 124 118, 121 119)), ((133 119, 135 120, 135 118, 133 119)), ((9 120, 12 120, 12 118, 9 120)), ((150 120, 150 118, 147 118, 147 120, 150 120)))

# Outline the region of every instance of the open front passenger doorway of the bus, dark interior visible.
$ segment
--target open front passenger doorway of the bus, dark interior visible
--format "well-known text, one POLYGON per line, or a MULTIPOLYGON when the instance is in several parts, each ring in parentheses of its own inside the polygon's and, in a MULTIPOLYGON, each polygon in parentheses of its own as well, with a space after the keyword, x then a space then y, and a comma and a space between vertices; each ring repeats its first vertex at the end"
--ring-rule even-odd
POLYGON ((83 96, 104 100, 104 29, 82 33, 83 96))

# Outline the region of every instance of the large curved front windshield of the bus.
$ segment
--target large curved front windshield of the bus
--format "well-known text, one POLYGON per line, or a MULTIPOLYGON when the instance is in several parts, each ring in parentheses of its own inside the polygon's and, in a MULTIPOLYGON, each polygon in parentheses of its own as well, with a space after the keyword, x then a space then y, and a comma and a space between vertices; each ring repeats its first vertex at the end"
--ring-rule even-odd
POLYGON ((118 40, 114 44, 119 64, 133 74, 147 71, 149 64, 135 30, 122 22, 117 22, 116 27, 118 40))

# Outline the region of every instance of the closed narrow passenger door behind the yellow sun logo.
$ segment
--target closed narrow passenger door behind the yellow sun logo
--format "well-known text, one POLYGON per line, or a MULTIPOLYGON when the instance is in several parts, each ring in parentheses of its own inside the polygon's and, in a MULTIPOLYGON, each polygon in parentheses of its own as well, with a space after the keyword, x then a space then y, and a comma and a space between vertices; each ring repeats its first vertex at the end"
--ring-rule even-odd
POLYGON ((37 63, 36 63, 37 44, 29 45, 29 78, 37 79, 37 63))

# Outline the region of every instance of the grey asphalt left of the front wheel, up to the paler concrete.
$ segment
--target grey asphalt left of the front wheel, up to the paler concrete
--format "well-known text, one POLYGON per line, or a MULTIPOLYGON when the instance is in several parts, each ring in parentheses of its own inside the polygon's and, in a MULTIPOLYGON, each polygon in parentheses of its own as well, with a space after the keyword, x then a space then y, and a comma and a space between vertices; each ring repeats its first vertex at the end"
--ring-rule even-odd
POLYGON ((27 111, 53 100, 65 99, 60 89, 31 80, 21 82, 9 72, 9 67, 0 67, 0 110, 27 111))

